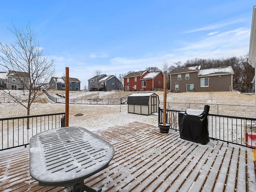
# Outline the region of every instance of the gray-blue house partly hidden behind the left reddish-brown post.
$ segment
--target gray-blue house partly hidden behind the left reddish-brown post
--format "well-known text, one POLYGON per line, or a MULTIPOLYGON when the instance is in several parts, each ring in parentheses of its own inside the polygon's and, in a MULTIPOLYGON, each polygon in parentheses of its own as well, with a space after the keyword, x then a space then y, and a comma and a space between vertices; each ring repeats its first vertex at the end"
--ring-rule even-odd
MULTIPOLYGON (((66 90, 65 77, 52 77, 49 82, 49 88, 54 90, 66 90)), ((69 90, 70 91, 79 91, 80 90, 80 80, 77 78, 69 78, 69 90)))

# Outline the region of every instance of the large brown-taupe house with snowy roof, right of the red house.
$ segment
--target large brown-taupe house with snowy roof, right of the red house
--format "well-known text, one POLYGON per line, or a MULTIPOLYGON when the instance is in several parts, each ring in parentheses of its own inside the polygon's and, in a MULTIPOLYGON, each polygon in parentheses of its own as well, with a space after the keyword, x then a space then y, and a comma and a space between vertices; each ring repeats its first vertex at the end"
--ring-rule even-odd
POLYGON ((232 91, 234 70, 231 66, 200 69, 179 68, 170 73, 172 92, 232 91))

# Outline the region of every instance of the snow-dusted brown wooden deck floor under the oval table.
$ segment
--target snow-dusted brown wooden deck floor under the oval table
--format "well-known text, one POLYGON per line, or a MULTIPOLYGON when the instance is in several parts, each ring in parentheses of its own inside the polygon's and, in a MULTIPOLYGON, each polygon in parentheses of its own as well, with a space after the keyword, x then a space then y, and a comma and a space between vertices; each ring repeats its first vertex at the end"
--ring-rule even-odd
MULTIPOLYGON (((256 192, 252 149, 212 140, 203 146, 140 122, 94 133, 115 148, 110 166, 84 180, 103 192, 256 192)), ((38 186, 29 174, 29 148, 19 148, 0 152, 0 191, 67 189, 38 186)))

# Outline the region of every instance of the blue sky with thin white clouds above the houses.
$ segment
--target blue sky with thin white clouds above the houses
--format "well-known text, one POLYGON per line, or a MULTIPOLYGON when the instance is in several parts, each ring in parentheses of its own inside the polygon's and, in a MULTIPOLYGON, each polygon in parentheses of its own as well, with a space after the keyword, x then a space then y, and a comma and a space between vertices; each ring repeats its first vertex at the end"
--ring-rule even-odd
POLYGON ((228 58, 249 51, 254 0, 8 0, 0 6, 0 42, 14 42, 12 22, 36 33, 61 77, 81 88, 94 76, 192 58, 228 58))

